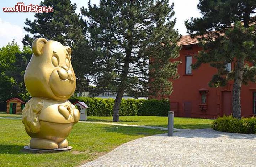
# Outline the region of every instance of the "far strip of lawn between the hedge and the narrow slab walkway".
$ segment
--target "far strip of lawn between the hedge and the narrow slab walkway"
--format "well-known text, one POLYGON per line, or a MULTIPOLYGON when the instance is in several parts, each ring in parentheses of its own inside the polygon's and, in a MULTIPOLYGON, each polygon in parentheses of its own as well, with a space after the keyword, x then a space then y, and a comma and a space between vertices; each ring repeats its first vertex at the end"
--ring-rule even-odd
MULTIPOLYGON (((112 122, 112 117, 89 116, 88 121, 112 122)), ((174 117, 174 128, 203 129, 210 128, 213 120, 198 118, 174 117)), ((167 127, 168 117, 163 116, 121 116, 120 122, 124 124, 149 125, 167 127)))

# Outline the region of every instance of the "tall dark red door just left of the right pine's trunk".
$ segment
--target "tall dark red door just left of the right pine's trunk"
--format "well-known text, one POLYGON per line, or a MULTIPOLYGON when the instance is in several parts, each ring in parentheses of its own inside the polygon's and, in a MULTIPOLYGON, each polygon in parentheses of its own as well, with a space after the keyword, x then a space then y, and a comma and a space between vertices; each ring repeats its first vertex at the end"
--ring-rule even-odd
POLYGON ((222 113, 225 115, 231 115, 232 113, 231 91, 222 92, 222 113))

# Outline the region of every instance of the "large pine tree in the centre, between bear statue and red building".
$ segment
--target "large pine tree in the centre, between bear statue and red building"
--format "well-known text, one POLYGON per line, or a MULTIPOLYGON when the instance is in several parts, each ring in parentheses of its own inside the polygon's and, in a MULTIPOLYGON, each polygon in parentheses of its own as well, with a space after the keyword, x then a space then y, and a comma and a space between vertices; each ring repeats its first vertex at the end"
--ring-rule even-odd
POLYGON ((173 7, 168 0, 100 0, 99 6, 89 1, 88 9, 81 9, 96 51, 90 77, 97 88, 117 91, 114 122, 124 92, 171 94, 169 79, 177 77, 179 62, 170 59, 181 48, 173 7))

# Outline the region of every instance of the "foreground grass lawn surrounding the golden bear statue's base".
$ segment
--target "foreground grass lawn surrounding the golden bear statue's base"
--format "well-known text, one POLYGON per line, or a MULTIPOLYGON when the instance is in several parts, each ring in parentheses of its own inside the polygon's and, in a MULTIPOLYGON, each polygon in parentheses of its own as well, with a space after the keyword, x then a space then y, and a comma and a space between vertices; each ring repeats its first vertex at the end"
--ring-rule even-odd
MULTIPOLYGON (((0 117, 15 116, 0 113, 0 117)), ((20 115, 18 115, 20 116, 20 115)), ((52 154, 30 154, 23 151, 29 144, 20 119, 0 119, 0 167, 78 166, 91 161, 117 146, 137 138, 167 133, 154 129, 110 126, 79 122, 68 137, 72 151, 52 154)))

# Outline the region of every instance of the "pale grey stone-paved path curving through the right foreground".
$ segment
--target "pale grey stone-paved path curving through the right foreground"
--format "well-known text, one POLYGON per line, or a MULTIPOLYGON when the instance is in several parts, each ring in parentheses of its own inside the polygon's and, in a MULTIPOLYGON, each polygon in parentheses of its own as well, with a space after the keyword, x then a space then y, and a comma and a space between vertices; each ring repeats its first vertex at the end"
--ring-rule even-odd
POLYGON ((256 135, 197 129, 125 143, 81 167, 253 167, 256 135))

